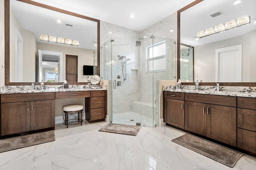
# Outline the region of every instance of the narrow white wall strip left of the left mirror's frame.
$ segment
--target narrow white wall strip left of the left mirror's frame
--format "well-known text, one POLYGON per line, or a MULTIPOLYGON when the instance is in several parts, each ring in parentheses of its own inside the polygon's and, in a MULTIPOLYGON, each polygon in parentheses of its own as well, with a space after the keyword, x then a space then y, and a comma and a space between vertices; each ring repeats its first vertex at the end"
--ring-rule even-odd
POLYGON ((4 86, 4 1, 0 1, 0 86, 4 86))

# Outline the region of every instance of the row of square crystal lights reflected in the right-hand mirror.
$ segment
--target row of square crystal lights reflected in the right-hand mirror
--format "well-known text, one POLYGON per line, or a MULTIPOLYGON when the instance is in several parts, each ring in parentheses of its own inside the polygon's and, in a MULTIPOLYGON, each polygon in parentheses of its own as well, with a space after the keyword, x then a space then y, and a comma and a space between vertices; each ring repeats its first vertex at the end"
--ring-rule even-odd
POLYGON ((228 22, 225 22, 224 24, 218 24, 218 25, 214 26, 214 28, 210 27, 210 28, 207 28, 206 30, 199 31, 199 32, 197 32, 196 35, 198 38, 203 38, 206 36, 210 36, 212 34, 230 30, 232 28, 244 26, 246 24, 250 24, 250 16, 248 16, 248 15, 239 17, 236 20, 230 20, 228 22))

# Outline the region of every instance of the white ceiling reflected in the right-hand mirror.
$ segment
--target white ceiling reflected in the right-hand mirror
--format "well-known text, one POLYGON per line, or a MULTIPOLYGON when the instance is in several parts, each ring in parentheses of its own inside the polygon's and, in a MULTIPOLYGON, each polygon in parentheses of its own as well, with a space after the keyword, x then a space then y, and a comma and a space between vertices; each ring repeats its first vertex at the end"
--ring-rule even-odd
POLYGON ((242 0, 240 4, 234 5, 234 0, 204 0, 199 4, 180 13, 181 42, 192 46, 218 42, 237 36, 242 36, 252 30, 256 30, 256 0, 242 0), (222 15, 212 18, 210 15, 218 11, 222 15), (198 31, 223 24, 238 17, 249 15, 251 23, 245 26, 227 30, 211 36, 195 40, 198 31))

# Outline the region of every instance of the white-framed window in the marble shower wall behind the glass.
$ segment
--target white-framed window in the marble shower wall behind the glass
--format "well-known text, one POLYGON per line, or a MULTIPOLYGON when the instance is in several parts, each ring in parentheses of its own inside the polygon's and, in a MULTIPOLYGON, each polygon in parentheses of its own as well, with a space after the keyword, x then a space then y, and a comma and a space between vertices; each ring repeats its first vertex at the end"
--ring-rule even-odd
POLYGON ((165 41, 147 47, 148 72, 165 70, 165 41))

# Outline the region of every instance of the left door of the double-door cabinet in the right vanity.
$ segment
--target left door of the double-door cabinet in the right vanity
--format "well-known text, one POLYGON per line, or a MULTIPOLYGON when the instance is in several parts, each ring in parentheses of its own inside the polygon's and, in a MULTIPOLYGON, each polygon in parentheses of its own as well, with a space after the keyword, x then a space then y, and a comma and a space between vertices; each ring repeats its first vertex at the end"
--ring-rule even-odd
POLYGON ((206 136, 206 104, 185 102, 185 129, 206 136))

